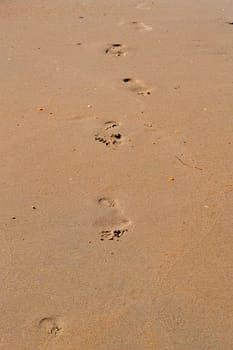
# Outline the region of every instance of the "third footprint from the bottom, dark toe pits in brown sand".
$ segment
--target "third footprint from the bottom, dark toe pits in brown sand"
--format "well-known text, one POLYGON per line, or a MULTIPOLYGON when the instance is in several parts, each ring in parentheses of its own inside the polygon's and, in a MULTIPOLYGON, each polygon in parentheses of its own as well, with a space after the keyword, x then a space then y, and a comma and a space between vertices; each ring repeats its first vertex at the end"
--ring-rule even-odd
POLYGON ((105 146, 118 146, 122 142, 122 134, 119 132, 120 124, 115 121, 104 123, 104 128, 95 135, 95 140, 105 146))

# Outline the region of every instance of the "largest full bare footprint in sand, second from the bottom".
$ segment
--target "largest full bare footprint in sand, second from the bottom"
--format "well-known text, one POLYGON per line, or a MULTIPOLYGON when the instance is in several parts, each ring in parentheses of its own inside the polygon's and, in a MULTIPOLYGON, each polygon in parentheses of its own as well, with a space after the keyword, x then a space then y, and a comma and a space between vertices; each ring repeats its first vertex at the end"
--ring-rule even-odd
POLYGON ((100 209, 100 216, 95 221, 95 225, 100 228, 99 239, 101 241, 119 241, 128 232, 130 220, 124 216, 118 204, 111 198, 101 197, 97 204, 100 209), (104 229, 102 229, 103 227, 104 229))

